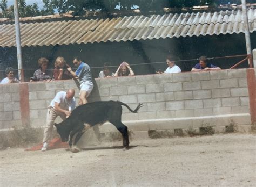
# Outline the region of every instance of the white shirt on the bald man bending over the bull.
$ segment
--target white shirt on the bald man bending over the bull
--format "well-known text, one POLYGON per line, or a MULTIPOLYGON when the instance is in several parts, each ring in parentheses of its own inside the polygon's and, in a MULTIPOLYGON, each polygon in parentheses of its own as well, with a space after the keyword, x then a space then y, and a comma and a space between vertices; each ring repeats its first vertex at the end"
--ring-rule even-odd
POLYGON ((65 91, 59 91, 56 96, 54 97, 54 99, 51 101, 50 106, 53 107, 55 109, 55 102, 59 103, 60 108, 64 109, 64 110, 74 110, 76 107, 76 100, 73 97, 71 100, 67 100, 66 99, 66 92, 65 91))

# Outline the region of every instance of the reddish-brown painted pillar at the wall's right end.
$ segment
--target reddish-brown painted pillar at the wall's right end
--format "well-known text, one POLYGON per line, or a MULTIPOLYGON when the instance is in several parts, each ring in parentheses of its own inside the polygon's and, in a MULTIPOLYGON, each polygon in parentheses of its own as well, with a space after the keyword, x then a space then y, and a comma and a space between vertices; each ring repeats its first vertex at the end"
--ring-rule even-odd
POLYGON ((255 70, 252 68, 247 69, 247 85, 249 94, 251 122, 256 123, 256 80, 255 70))

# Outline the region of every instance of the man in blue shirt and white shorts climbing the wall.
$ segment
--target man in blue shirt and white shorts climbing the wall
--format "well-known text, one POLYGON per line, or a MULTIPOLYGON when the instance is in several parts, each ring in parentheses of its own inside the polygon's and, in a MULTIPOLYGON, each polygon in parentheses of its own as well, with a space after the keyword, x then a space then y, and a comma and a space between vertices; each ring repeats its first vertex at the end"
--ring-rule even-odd
POLYGON ((73 64, 75 64, 78 69, 74 72, 71 68, 68 68, 68 71, 73 77, 79 78, 80 80, 79 105, 83 105, 88 103, 87 97, 93 89, 91 68, 88 64, 82 62, 78 56, 74 57, 73 64))

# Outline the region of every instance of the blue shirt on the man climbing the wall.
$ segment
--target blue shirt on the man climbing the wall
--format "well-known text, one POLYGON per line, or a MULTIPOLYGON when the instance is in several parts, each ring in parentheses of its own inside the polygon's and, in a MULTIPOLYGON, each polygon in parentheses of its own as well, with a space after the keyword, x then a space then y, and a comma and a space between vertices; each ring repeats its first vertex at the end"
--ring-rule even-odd
POLYGON ((76 76, 78 76, 80 83, 85 81, 92 82, 91 68, 84 62, 82 62, 76 70, 76 76))

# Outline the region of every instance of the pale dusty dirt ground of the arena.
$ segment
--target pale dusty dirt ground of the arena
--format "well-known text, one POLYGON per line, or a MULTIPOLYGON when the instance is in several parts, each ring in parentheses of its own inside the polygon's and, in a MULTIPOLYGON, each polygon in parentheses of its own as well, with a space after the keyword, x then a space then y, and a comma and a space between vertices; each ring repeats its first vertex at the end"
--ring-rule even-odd
POLYGON ((256 135, 218 134, 0 152, 0 186, 255 186, 256 135), (117 146, 117 147, 116 147, 117 146))

